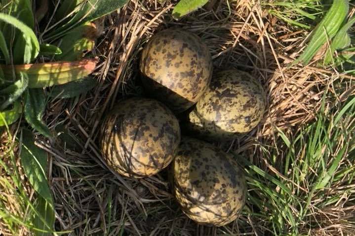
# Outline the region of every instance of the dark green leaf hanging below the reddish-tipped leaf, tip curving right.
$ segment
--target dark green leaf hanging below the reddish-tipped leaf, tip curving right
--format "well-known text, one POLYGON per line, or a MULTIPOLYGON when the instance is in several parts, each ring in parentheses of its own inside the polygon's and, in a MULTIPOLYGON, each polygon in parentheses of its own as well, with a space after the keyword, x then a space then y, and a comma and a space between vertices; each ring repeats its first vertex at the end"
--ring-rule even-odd
POLYGON ((49 128, 43 123, 42 115, 46 106, 43 89, 28 89, 26 91, 25 119, 39 133, 50 137, 49 128))

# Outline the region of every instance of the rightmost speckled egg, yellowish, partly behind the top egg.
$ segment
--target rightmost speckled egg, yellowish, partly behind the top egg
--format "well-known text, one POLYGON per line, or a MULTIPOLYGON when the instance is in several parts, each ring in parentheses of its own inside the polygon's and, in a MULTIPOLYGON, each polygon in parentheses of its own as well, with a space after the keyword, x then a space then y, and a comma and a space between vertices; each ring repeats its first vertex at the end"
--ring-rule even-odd
POLYGON ((213 75, 209 88, 190 112, 187 127, 206 139, 236 138, 263 118, 266 93, 249 73, 237 69, 213 75))

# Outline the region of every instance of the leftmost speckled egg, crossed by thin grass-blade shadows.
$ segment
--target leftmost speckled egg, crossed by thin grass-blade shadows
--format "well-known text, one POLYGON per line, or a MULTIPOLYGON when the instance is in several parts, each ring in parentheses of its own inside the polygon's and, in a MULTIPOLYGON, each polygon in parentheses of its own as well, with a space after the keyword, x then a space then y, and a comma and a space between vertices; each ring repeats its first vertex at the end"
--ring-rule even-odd
POLYGON ((140 178, 168 166, 180 138, 179 122, 163 103, 131 98, 119 102, 103 119, 100 148, 112 170, 140 178))

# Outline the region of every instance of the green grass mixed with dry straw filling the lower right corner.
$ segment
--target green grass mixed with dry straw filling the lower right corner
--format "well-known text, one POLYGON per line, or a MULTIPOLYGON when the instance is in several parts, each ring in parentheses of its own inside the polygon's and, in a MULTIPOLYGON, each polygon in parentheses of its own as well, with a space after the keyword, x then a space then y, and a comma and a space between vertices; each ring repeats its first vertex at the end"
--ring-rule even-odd
POLYGON ((293 135, 277 130, 278 151, 261 145, 265 169, 237 157, 250 189, 244 214, 260 235, 355 232, 355 96, 325 104, 293 135))

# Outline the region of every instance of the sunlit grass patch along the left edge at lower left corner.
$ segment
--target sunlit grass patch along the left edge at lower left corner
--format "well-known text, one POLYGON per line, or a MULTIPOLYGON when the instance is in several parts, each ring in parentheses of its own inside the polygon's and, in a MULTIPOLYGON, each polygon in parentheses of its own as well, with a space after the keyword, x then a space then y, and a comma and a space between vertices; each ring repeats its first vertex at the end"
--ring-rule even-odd
POLYGON ((2 129, 0 135, 0 233, 27 236, 34 228, 31 208, 34 192, 15 156, 17 146, 10 134, 2 129))

